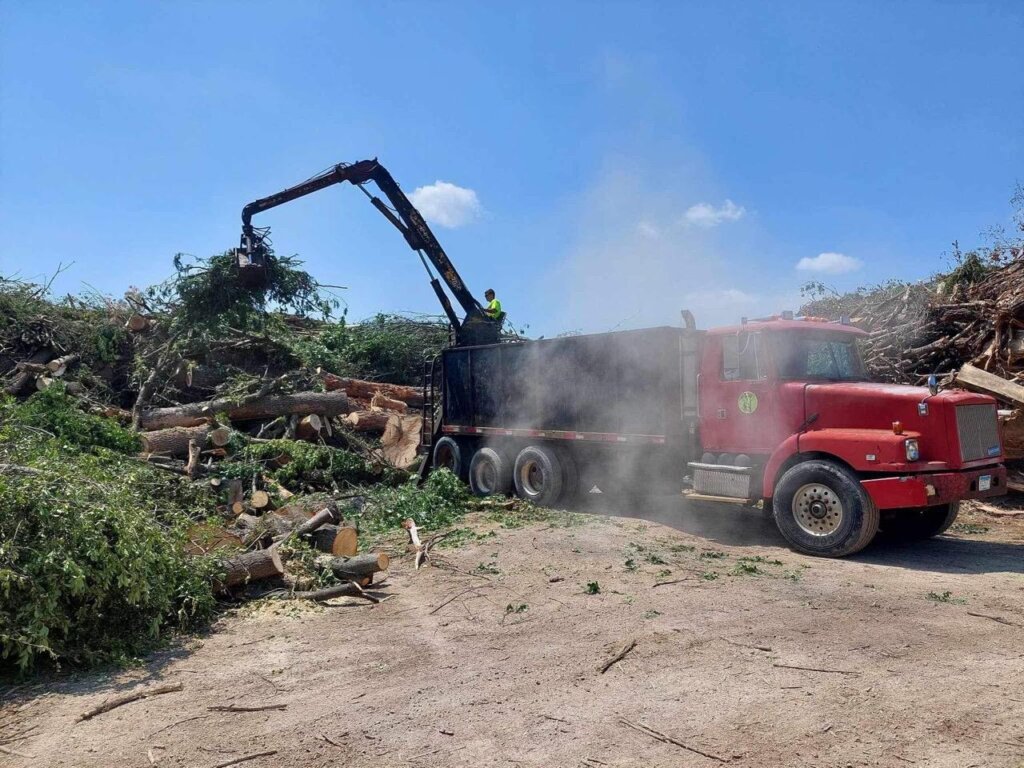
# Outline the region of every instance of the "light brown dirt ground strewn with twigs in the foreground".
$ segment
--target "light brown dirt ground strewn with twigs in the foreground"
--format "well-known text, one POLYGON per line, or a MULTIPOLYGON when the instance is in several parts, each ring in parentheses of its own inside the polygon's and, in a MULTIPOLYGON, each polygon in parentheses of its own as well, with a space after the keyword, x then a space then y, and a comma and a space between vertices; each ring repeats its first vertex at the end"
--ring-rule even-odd
POLYGON ((242 609, 144 667, 7 691, 33 757, 0 764, 1024 765, 1024 520, 820 560, 757 511, 644 514, 673 527, 477 516, 379 605, 242 609))

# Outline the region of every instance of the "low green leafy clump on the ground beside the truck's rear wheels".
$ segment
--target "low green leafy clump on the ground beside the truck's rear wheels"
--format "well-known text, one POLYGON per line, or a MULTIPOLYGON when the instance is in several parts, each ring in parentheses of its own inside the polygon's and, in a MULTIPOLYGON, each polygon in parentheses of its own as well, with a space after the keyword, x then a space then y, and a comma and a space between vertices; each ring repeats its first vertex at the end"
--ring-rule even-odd
POLYGON ((407 518, 428 530, 438 530, 458 522, 468 511, 469 490, 446 469, 430 473, 423 487, 410 481, 397 487, 378 485, 367 497, 362 511, 368 532, 393 531, 407 518))

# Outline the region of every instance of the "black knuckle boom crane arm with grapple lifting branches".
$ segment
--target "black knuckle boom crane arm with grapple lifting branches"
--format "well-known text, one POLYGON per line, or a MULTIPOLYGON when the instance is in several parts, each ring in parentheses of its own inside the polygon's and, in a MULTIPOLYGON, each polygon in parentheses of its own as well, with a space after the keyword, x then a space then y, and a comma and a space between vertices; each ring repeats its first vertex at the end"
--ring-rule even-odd
POLYGON ((345 181, 357 186, 370 199, 374 208, 401 232, 409 247, 419 254, 420 261, 430 276, 430 287, 437 295, 444 314, 447 315, 455 331, 456 345, 470 346, 497 342, 501 331, 501 319, 494 319, 484 313, 423 215, 416 210, 391 174, 376 159, 352 164, 339 163, 302 183, 246 205, 242 209, 242 240, 236 252, 241 279, 248 283, 261 282, 265 278, 267 261, 272 258, 264 242, 269 229, 253 226, 252 218, 255 214, 345 181), (366 184, 370 181, 377 184, 391 204, 390 207, 366 189, 366 184), (431 271, 431 265, 437 270, 439 279, 431 271), (444 281, 447 290, 463 308, 464 317, 460 318, 456 313, 440 281, 444 281))

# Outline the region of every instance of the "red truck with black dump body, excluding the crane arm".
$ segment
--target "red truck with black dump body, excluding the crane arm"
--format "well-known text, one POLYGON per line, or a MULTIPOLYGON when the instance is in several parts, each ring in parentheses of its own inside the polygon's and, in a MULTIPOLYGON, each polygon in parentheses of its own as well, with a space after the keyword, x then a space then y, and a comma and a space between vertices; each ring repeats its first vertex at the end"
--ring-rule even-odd
POLYGON ((638 483, 771 511, 839 557, 880 527, 926 538, 1006 492, 995 401, 868 381, 864 333, 772 317, 455 346, 431 364, 432 466, 478 495, 555 506, 638 483), (581 478, 586 488, 581 488, 581 478))

